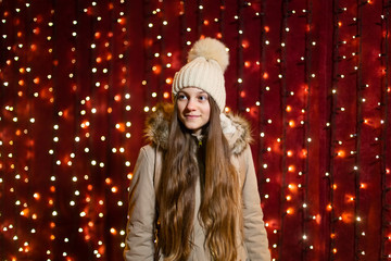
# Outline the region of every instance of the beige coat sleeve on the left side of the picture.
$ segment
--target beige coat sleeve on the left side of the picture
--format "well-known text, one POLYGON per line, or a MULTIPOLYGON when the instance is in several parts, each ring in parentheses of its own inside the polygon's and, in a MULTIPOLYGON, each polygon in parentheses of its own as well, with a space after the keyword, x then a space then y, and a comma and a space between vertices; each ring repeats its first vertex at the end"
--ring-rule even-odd
POLYGON ((141 148, 129 187, 128 222, 124 259, 153 260, 155 191, 153 186, 154 150, 141 148))

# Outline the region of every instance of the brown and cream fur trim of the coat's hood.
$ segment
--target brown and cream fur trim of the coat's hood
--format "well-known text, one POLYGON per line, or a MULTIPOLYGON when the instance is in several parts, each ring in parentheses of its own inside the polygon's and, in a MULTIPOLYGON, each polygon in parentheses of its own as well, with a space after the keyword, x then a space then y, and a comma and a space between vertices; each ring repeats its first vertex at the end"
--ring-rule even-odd
MULTIPOLYGON (((168 126, 173 114, 172 103, 161 103, 147 119, 146 136, 148 141, 163 150, 168 147, 168 126)), ((252 141, 250 124, 239 115, 232 113, 220 114, 223 133, 226 136, 234 154, 240 154, 252 141)))

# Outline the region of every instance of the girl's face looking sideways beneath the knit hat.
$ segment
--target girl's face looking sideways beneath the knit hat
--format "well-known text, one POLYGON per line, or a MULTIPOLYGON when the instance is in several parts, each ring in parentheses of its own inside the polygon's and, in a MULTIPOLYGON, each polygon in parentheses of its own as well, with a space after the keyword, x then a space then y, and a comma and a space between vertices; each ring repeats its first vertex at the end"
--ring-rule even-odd
POLYGON ((209 95, 199 88, 184 88, 177 94, 177 108, 179 121, 194 134, 201 134, 211 115, 209 95))

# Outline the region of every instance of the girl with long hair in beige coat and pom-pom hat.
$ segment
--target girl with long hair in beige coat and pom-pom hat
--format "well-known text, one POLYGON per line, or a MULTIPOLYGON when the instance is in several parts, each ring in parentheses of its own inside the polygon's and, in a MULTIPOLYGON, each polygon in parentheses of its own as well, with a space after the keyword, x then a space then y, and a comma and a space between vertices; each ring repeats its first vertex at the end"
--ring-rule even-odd
POLYGON ((197 41, 174 104, 148 120, 129 188, 125 260, 270 260, 249 125, 224 112, 225 46, 197 41))

